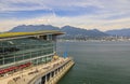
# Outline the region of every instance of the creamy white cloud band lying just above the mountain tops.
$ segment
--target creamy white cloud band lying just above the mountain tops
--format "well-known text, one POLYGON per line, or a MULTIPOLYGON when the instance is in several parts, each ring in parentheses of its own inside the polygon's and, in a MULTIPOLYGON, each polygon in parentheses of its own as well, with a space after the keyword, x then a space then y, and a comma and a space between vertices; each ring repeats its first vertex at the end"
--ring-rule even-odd
MULTIPOLYGON (((88 16, 77 16, 77 17, 60 17, 54 15, 47 15, 47 16, 40 16, 36 18, 30 19, 6 19, 2 20, 0 23, 0 27, 4 28, 4 31, 12 29, 13 27, 17 25, 53 25, 57 27, 62 27, 65 25, 70 25, 75 27, 86 28, 86 29, 93 29, 99 28, 100 30, 109 30, 112 28, 118 29, 118 28, 126 28, 130 27, 129 25, 130 18, 120 18, 120 19, 113 19, 113 20, 106 20, 106 19, 95 19, 88 16), (80 22, 78 22, 80 20, 80 22)), ((0 28, 0 29, 1 29, 0 28)), ((3 30, 1 30, 3 31, 3 30)))

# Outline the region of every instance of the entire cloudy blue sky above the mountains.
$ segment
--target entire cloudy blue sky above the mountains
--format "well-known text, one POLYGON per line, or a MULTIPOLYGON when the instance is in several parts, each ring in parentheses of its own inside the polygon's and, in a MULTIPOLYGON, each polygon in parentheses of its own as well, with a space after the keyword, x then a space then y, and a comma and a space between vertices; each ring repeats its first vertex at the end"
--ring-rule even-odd
POLYGON ((130 0, 0 0, 0 31, 65 25, 101 31, 130 28, 130 0))

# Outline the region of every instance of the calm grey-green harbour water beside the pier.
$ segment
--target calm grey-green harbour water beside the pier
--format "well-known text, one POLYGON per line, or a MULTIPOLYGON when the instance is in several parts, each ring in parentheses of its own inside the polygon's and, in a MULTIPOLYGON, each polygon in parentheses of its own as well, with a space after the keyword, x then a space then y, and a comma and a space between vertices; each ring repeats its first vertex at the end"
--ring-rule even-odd
POLYGON ((58 84, 130 84, 130 42, 58 42, 75 66, 58 84))

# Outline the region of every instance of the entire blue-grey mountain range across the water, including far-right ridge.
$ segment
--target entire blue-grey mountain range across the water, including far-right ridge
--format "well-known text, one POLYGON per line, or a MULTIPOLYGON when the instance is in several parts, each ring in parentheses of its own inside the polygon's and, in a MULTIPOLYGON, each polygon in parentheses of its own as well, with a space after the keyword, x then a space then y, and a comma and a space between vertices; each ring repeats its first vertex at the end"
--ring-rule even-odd
POLYGON ((120 29, 120 30, 108 30, 108 31, 100 31, 98 29, 87 30, 82 28, 64 26, 64 27, 54 27, 52 25, 21 25, 14 27, 11 32, 20 32, 20 31, 39 31, 39 30, 60 30, 65 32, 64 37, 77 38, 77 37, 108 37, 108 36, 123 36, 130 37, 130 28, 120 29))

